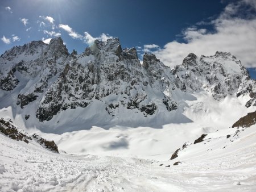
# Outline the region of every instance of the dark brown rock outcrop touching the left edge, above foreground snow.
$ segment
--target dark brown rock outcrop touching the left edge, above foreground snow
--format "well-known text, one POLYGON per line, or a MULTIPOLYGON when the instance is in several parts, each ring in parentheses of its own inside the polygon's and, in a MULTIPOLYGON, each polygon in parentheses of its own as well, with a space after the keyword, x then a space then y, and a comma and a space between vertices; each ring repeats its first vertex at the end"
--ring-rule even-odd
POLYGON ((25 143, 28 143, 28 140, 32 140, 31 137, 28 137, 27 135, 24 135, 24 133, 18 131, 12 123, 3 118, 0 119, 0 132, 16 141, 24 141, 25 143))

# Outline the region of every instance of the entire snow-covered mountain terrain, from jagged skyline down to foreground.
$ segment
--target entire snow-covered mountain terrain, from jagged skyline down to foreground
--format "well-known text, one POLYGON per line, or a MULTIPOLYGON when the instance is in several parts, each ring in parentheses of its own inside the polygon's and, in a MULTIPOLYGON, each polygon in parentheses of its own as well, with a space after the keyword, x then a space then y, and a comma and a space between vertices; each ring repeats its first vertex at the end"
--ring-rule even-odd
POLYGON ((80 55, 60 37, 14 47, 0 191, 256 191, 255 85, 225 52, 171 69, 117 38, 80 55))

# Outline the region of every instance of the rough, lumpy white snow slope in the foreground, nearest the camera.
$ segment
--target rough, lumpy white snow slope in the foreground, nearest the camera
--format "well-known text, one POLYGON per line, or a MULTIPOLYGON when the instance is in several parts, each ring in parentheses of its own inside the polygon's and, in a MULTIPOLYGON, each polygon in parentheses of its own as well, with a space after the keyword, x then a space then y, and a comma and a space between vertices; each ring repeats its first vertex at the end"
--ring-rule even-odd
POLYGON ((57 154, 0 135, 0 191, 255 191, 256 126, 227 140, 230 130, 181 153, 177 166, 176 159, 57 154))

